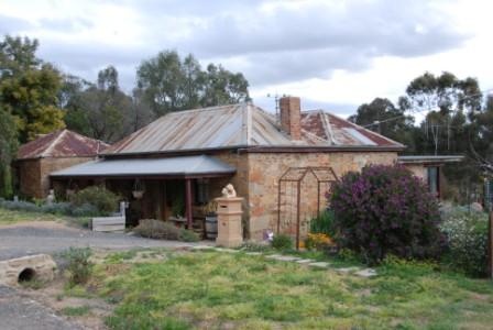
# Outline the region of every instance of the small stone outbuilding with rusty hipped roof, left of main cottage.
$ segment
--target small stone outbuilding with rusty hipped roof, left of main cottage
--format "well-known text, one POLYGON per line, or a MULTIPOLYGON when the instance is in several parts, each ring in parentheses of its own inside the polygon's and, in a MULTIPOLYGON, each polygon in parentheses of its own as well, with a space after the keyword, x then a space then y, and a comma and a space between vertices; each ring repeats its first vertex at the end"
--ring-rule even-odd
POLYGON ((21 195, 44 198, 50 190, 50 173, 95 160, 109 145, 68 130, 39 136, 19 148, 13 163, 21 195))

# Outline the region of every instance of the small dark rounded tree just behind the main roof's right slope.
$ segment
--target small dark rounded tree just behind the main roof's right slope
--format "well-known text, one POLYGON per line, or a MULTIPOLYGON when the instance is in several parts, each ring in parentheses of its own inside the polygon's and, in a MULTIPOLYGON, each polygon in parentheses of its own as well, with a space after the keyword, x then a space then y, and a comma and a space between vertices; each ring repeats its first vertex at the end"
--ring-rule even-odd
POLYGON ((361 105, 350 121, 366 127, 386 138, 413 146, 414 119, 396 108, 388 99, 375 98, 370 103, 361 105))

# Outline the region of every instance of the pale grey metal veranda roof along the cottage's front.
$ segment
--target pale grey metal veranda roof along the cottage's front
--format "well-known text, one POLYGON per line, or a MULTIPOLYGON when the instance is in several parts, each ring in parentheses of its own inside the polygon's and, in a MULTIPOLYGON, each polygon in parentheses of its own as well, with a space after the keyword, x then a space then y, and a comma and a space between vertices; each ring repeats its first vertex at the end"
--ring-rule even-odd
POLYGON ((237 169, 207 156, 168 158, 100 160, 87 162, 51 174, 54 178, 70 177, 198 177, 221 176, 237 169))

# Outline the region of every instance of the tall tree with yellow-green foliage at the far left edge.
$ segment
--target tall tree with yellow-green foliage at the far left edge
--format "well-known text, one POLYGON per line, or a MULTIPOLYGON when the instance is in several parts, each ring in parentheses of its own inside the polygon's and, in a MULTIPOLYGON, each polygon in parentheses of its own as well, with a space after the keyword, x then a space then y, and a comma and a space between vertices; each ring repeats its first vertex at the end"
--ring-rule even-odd
POLYGON ((0 43, 0 105, 14 117, 21 142, 65 127, 57 108, 61 75, 36 58, 37 45, 11 36, 0 43))

